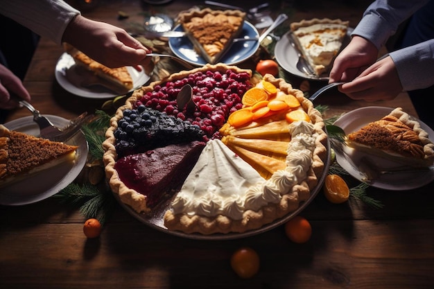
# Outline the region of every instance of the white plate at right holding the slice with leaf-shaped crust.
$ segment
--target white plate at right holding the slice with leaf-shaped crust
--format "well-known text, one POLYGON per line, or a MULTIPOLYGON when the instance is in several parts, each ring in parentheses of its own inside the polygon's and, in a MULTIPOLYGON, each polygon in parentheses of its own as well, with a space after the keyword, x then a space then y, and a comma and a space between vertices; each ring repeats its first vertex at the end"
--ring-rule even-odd
MULTIPOLYGON (((342 128, 342 130, 345 131, 345 134, 349 134, 350 132, 359 130, 367 123, 383 118, 383 116, 388 115, 392 110, 394 109, 390 107, 361 107, 342 115, 334 125, 342 128)), ((422 121, 419 121, 419 123, 421 128, 428 132, 429 139, 434 141, 434 131, 422 121)), ((373 164, 376 164, 376 166, 381 168, 402 166, 402 164, 397 164, 394 161, 382 159, 381 157, 376 157, 374 155, 368 155, 365 152, 359 152, 353 148, 348 148, 347 146, 344 146, 343 153, 338 152, 338 150, 335 150, 335 152, 338 164, 361 182, 363 182, 363 179, 365 178, 365 174, 358 169, 362 163, 362 157, 367 157, 373 164)), ((434 170, 419 170, 415 172, 396 172, 392 174, 379 175, 379 177, 377 177, 373 182, 370 182, 370 185, 379 189, 403 191, 417 189, 433 180, 434 170)))

